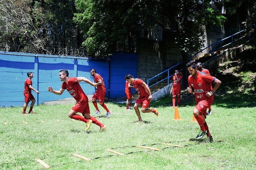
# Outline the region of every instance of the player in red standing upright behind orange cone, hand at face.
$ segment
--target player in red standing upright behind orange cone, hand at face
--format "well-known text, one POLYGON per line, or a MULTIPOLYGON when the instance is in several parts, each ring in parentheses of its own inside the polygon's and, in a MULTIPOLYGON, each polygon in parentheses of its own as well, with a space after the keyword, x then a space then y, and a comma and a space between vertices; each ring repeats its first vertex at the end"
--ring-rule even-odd
POLYGON ((177 97, 177 107, 180 106, 181 79, 182 76, 179 75, 179 71, 175 70, 175 75, 172 77, 172 108, 175 107, 175 97, 177 97))

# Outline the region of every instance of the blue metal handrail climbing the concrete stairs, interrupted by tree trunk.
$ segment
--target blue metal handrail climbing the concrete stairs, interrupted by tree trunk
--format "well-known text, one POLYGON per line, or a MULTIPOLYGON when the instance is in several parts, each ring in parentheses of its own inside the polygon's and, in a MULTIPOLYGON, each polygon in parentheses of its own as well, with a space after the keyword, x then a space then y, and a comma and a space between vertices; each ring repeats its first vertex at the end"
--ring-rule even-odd
MULTIPOLYGON (((255 26, 255 25, 253 25, 253 26, 255 26)), ((227 47, 228 45, 232 45, 232 47, 233 47, 234 42, 236 42, 236 41, 238 41, 238 40, 241 40, 242 38, 246 37, 247 34, 243 35, 243 36, 240 37, 240 38, 236 38, 235 40, 234 40, 234 37, 235 37, 236 35, 238 35, 238 34, 241 34, 242 32, 244 32, 244 31, 246 31, 246 30, 247 30, 247 29, 244 29, 244 30, 242 30, 242 31, 237 32, 236 34, 230 35, 229 37, 226 37, 226 38, 224 38, 224 39, 222 39, 222 40, 219 40, 219 41, 217 41, 217 42, 212 43, 211 45, 207 46, 206 48, 202 49, 201 51, 199 51, 199 52, 193 54, 193 55, 190 57, 190 60, 195 60, 195 59, 196 59, 196 56, 198 56, 198 54, 203 53, 204 50, 209 49, 209 48, 212 48, 213 45, 220 44, 220 43, 224 42, 224 40, 227 40, 227 39, 229 39, 229 38, 231 38, 231 42, 227 43, 226 45, 221 45, 220 47, 215 48, 215 49, 213 49, 213 50, 209 50, 209 52, 208 52, 208 53, 205 53, 204 56, 208 56, 209 54, 211 54, 211 56, 213 57, 214 51, 217 51, 218 49, 227 47)), ((245 33, 246 33, 246 32, 245 32, 245 33)), ((248 41, 250 41, 250 40, 251 40, 251 39, 250 39, 250 34, 249 34, 248 41)), ((248 42, 248 41, 247 41, 247 42, 248 42)), ((202 58, 202 57, 201 57, 201 58, 202 58)), ((157 85, 158 83, 163 82, 163 81, 166 80, 166 79, 168 79, 167 85, 169 85, 169 79, 170 79, 170 77, 174 76, 174 74, 172 74, 172 75, 170 76, 169 71, 170 71, 171 69, 177 67, 177 66, 180 65, 181 63, 183 63, 183 61, 182 61, 182 62, 179 62, 178 64, 172 66, 171 68, 168 68, 167 70, 165 70, 165 71, 163 71, 163 72, 161 72, 161 73, 155 75, 154 77, 148 79, 148 80, 147 80, 147 84, 149 85, 149 81, 150 81, 150 80, 152 80, 152 79, 154 79, 154 78, 156 78, 156 77, 158 77, 158 76, 160 76, 160 75, 162 75, 162 74, 164 74, 164 73, 166 73, 166 72, 168 73, 167 78, 162 79, 162 80, 160 80, 159 82, 156 82, 156 83, 154 83, 153 85, 150 85, 149 87, 152 87, 152 86, 154 86, 154 85, 157 85)), ((182 69, 181 69, 181 70, 182 70, 182 69)), ((180 70, 180 71, 181 71, 181 70, 180 70)))

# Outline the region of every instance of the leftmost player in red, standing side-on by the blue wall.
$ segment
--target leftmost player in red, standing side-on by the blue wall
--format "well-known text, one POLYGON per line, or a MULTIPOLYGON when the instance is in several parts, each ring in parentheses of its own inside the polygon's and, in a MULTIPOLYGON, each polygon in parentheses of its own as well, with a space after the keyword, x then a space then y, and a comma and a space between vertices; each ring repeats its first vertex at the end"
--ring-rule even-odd
POLYGON ((32 72, 28 72, 27 73, 28 78, 26 78, 25 80, 25 84, 24 84, 24 96, 25 96, 25 103, 23 105, 23 112, 22 114, 27 114, 26 113, 26 108, 29 104, 29 101, 31 100, 32 103, 30 105, 30 109, 29 109, 29 113, 34 113, 32 111, 34 104, 35 104, 35 97, 32 95, 31 90, 35 91, 35 93, 39 94, 39 91, 35 90, 35 88, 32 87, 32 81, 31 79, 34 77, 34 74, 32 72))

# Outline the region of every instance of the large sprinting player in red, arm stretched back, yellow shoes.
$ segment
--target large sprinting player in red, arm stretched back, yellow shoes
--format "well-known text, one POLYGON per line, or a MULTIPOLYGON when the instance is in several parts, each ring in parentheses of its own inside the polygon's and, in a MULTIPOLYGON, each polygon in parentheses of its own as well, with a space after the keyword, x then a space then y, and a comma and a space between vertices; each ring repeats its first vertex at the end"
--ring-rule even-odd
POLYGON ((85 130, 88 131, 90 128, 90 125, 94 123, 95 125, 98 125, 100 127, 100 131, 104 131, 106 129, 106 126, 103 125, 101 122, 99 122, 97 119, 95 119, 93 116, 90 116, 90 108, 88 105, 88 97, 84 93, 83 89, 81 88, 79 82, 84 81, 88 84, 96 87, 96 83, 91 82, 89 79, 85 77, 68 77, 69 73, 66 69, 61 70, 59 73, 59 78, 61 81, 63 81, 61 85, 61 89, 59 91, 55 91, 52 89, 51 86, 48 87, 48 91, 52 92, 54 94, 61 95, 65 89, 70 93, 71 96, 73 96, 74 99, 76 99, 76 105, 74 105, 70 111, 68 112, 68 116, 71 119, 80 120, 82 122, 86 123, 85 130), (82 116, 76 114, 76 113, 82 113, 82 116))

